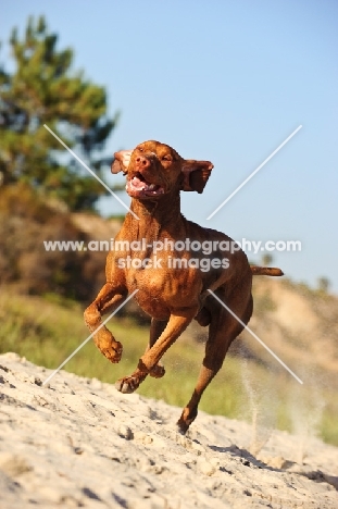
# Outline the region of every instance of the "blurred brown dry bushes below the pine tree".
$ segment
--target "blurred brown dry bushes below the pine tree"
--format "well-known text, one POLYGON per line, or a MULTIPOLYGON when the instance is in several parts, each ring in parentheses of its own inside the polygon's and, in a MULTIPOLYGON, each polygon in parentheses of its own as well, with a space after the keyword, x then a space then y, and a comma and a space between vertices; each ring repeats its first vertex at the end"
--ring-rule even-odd
POLYGON ((116 223, 103 225, 99 216, 79 218, 58 202, 47 204, 24 185, 0 189, 1 283, 24 294, 53 293, 89 302, 103 284, 107 253, 46 251, 43 240, 86 243, 116 234, 116 223))

